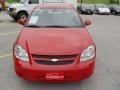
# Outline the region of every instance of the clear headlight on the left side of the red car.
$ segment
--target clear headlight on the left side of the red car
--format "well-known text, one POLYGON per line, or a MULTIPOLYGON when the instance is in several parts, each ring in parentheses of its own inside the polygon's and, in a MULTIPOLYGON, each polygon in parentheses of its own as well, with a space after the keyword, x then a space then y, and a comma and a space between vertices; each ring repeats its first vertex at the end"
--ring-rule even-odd
POLYGON ((29 61, 27 51, 24 48, 22 48, 20 45, 15 45, 14 54, 15 54, 15 57, 19 60, 29 61))

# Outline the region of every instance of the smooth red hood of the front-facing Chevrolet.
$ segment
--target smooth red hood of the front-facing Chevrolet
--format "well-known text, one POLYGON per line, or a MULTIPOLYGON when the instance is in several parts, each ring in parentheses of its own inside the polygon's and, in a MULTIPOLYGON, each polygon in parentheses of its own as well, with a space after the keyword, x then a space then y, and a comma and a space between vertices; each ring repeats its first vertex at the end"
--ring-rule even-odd
POLYGON ((85 29, 80 28, 24 28, 17 43, 31 54, 78 54, 93 41, 85 29))

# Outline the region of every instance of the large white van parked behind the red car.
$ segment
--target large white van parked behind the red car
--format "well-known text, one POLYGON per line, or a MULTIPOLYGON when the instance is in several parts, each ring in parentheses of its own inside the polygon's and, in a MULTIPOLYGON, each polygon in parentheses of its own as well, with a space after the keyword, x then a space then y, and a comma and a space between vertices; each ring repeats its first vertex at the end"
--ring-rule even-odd
POLYGON ((77 0, 21 0, 19 3, 13 3, 8 7, 8 14, 15 20, 27 18, 30 12, 37 4, 72 4, 77 8, 77 0))

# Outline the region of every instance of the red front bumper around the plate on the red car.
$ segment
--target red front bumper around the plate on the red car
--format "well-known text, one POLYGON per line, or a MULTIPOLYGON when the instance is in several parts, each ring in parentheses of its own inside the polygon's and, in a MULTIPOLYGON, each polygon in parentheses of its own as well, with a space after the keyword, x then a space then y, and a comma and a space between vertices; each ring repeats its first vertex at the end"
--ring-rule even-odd
POLYGON ((95 58, 79 65, 30 65, 28 62, 14 60, 15 72, 25 80, 36 82, 73 82, 90 77, 94 71, 95 58), (46 72, 64 72, 64 80, 46 80, 46 72))

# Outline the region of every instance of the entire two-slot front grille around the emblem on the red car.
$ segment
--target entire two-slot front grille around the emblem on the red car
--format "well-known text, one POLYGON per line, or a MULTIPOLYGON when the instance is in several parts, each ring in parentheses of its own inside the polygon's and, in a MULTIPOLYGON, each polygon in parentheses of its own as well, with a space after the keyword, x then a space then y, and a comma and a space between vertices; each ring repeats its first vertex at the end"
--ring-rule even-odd
POLYGON ((33 60, 35 60, 38 64, 44 65, 65 65, 65 64, 72 64, 77 57, 76 54, 74 55, 38 55, 32 54, 33 60), (58 61, 52 61, 52 59, 58 59, 58 61))

